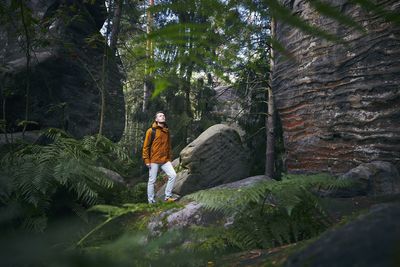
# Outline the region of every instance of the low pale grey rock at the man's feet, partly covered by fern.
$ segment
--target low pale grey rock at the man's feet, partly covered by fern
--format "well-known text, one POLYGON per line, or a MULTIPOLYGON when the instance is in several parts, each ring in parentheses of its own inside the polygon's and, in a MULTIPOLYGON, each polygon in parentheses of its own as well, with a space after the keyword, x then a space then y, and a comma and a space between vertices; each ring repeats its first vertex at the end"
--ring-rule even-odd
MULTIPOLYGON (((258 182, 268 180, 264 175, 248 177, 236 182, 220 185, 211 189, 221 188, 244 188, 257 184, 258 182)), ((273 181, 272 179, 270 179, 273 181)), ((183 197, 180 203, 186 203, 182 209, 171 209, 154 216, 149 224, 148 229, 152 235, 158 235, 162 231, 172 230, 190 226, 209 226, 213 224, 224 225, 229 227, 233 223, 233 218, 219 212, 204 209, 201 204, 190 201, 187 197, 183 197)))

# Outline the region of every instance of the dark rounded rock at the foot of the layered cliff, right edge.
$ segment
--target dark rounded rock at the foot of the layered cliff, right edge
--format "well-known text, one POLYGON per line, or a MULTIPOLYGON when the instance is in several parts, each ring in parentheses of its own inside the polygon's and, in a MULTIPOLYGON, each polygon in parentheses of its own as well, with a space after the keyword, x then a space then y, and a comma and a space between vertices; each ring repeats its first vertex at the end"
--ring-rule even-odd
POLYGON ((383 161, 364 163, 351 169, 339 179, 354 182, 350 188, 338 189, 331 197, 384 196, 400 193, 400 176, 396 167, 383 161))

